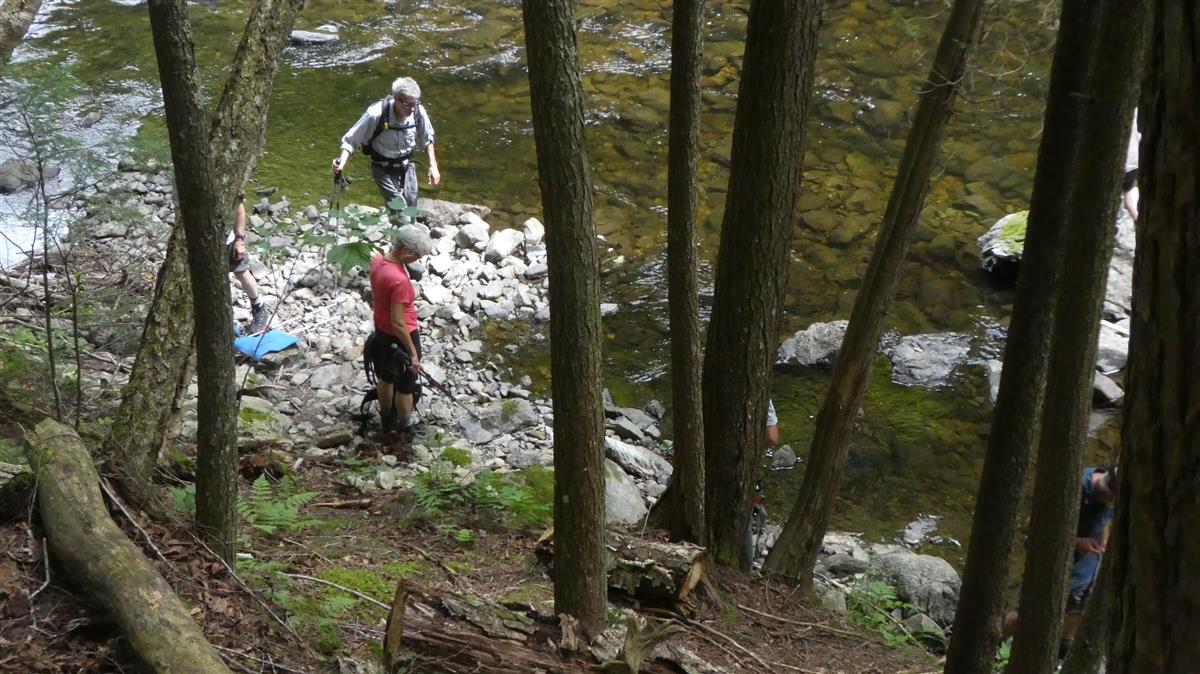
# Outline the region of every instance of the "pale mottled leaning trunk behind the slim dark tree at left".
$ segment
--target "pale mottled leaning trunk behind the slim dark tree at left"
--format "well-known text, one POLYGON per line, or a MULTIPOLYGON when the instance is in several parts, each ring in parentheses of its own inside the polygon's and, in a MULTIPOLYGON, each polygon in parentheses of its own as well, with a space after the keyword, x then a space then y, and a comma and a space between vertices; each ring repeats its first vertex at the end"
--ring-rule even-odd
MULTIPOLYGON (((258 0, 247 17, 209 137, 217 203, 228 204, 224 212, 233 209, 234 194, 262 151, 280 53, 302 5, 302 0, 258 0)), ((137 360, 104 443, 124 489, 138 501, 149 494, 158 451, 167 439, 174 393, 187 386, 192 336, 187 246, 176 213, 137 360)))

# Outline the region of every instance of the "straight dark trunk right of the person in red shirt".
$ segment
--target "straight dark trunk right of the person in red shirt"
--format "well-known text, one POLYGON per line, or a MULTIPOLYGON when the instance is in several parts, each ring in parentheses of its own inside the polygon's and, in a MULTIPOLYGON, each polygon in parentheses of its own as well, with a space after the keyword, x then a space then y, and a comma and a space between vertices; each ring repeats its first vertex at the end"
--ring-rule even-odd
POLYGON ((600 273, 572 0, 524 0, 529 102, 550 265, 554 610, 604 628, 600 273))

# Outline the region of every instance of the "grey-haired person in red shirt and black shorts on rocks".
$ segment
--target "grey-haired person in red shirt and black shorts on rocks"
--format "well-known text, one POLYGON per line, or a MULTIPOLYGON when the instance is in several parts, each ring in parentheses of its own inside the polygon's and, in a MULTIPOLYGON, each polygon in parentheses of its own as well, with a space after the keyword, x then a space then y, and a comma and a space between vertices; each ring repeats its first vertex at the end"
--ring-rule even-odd
POLYGON ((371 259, 374 332, 364 345, 364 361, 374 371, 384 433, 408 429, 420 397, 421 336, 407 265, 432 251, 425 229, 407 224, 396 231, 386 253, 371 259))

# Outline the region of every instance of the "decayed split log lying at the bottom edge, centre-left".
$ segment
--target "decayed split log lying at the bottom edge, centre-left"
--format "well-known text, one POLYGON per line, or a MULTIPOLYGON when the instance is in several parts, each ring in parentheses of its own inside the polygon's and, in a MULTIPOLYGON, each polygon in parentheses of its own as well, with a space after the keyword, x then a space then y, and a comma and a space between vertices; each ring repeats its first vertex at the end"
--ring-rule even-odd
MULTIPOLYGON (((658 640, 674 633, 661 634, 658 640)), ((590 651, 559 651, 564 638, 558 625, 479 596, 445 592, 409 580, 401 580, 396 586, 384 634, 386 674, 397 670, 558 674, 590 672, 598 667, 590 651)), ((638 634, 635 632, 634 637, 637 640, 638 634)), ((653 644, 644 644, 647 652, 637 654, 640 661, 649 656, 649 649, 653 644)), ((672 660, 659 657, 644 662, 640 670, 671 674, 685 669, 672 660)))

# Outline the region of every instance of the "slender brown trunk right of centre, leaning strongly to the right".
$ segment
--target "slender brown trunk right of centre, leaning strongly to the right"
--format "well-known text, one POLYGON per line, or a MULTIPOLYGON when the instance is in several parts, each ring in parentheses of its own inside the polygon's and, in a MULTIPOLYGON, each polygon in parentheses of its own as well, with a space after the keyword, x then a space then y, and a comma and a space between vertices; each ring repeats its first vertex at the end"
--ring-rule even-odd
POLYGON ((925 204, 942 132, 953 113, 967 56, 979 41, 982 7, 983 0, 956 0, 950 11, 934 66, 922 86, 878 241, 863 288, 854 297, 829 391, 817 415, 804 486, 787 525, 767 558, 767 571, 792 578, 805 588, 812 583, 812 565, 829 525, 829 511, 846 465, 854 417, 863 403, 900 266, 908 254, 912 233, 925 204))

